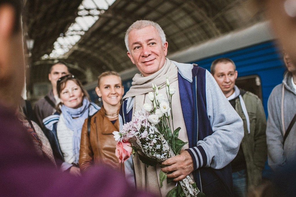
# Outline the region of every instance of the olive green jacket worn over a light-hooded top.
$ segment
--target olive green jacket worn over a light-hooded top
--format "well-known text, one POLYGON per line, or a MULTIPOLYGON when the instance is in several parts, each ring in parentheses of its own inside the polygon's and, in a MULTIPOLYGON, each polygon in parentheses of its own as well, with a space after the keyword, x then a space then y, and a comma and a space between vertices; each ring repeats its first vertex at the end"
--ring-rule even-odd
POLYGON ((266 144, 266 116, 262 101, 251 92, 245 92, 236 88, 237 94, 242 99, 247 109, 250 120, 250 133, 247 129, 247 120, 242 110, 239 96, 234 98, 235 111, 244 122, 244 138, 242 139, 242 151, 247 165, 248 188, 254 189, 262 180, 262 170, 267 158, 266 144))

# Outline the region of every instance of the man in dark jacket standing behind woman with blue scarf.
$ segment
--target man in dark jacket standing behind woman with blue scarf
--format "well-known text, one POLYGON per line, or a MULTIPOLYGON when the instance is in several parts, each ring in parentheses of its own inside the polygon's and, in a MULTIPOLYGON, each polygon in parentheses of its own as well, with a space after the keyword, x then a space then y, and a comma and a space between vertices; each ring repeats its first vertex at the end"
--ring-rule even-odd
POLYGON ((44 128, 42 120, 57 111, 57 105, 61 102, 57 92, 57 80, 65 75, 69 75, 65 62, 57 62, 50 67, 48 79, 52 84, 52 90, 44 98, 39 99, 34 106, 34 114, 41 128, 44 128))

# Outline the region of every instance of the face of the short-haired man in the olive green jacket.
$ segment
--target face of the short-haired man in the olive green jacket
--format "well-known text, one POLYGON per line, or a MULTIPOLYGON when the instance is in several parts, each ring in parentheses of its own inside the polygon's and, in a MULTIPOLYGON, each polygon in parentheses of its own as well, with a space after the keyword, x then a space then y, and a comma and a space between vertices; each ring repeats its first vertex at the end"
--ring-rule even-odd
POLYGON ((235 80, 237 79, 237 71, 231 62, 219 62, 216 64, 213 77, 217 81, 223 94, 229 97, 234 91, 235 80))

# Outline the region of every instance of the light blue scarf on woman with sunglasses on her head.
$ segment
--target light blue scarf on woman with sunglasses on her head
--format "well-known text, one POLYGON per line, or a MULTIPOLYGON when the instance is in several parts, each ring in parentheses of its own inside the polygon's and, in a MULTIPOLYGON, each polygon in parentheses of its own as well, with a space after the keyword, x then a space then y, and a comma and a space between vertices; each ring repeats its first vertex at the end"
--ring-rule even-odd
POLYGON ((82 129, 84 120, 89 115, 89 105, 90 105, 89 100, 84 98, 82 101, 82 106, 77 109, 73 109, 65 105, 61 106, 62 115, 65 118, 65 124, 69 129, 71 129, 74 132, 73 155, 74 155, 75 164, 78 164, 78 160, 79 160, 81 129, 82 129))

